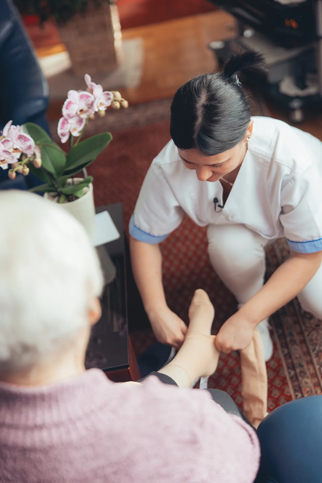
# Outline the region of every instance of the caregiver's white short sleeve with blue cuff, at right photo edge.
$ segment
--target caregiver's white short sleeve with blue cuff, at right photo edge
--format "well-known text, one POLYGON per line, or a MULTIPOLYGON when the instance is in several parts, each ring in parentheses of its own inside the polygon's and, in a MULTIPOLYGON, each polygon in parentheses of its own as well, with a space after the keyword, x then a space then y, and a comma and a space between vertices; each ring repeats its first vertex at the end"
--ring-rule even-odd
POLYGON ((322 251, 322 179, 310 166, 281 191, 280 222, 290 249, 297 253, 322 251))

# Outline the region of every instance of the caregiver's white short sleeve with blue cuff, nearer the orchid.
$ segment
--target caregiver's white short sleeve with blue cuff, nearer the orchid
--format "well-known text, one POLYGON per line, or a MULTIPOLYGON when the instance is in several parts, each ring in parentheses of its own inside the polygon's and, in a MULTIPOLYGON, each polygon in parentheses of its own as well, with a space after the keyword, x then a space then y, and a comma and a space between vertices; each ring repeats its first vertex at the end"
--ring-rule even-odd
POLYGON ((146 243, 160 243, 180 225, 183 214, 162 168, 153 162, 130 220, 130 235, 146 243))

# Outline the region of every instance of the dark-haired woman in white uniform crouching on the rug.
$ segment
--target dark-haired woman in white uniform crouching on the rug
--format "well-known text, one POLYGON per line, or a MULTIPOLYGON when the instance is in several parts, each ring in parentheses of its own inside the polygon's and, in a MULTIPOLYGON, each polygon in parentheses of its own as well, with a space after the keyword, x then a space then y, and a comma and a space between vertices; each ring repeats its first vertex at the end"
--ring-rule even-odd
POLYGON ((145 310, 158 341, 176 348, 187 328, 166 303, 159 243, 184 213, 208 227, 212 267, 238 301, 218 333, 218 350, 244 349, 257 326, 268 360, 268 317, 296 295, 322 318, 322 143, 282 121, 251 119, 236 72, 262 66, 256 52, 233 54, 223 72, 177 90, 172 140, 152 162, 130 220, 145 310), (264 248, 281 237, 291 256, 264 285, 264 248))

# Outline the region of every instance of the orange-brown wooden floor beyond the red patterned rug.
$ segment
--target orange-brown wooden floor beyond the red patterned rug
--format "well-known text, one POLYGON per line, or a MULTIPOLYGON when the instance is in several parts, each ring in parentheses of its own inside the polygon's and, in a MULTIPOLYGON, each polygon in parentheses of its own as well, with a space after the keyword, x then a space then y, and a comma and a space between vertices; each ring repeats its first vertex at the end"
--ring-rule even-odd
MULTIPOLYGON (((187 80, 217 68, 208 44, 232 38, 235 28, 231 15, 216 11, 123 30, 124 40, 142 39, 144 61, 140 85, 120 89, 122 95, 132 105, 171 98, 187 80)), ((57 44, 36 50, 39 57, 44 57, 63 49, 62 44, 57 44)), ((59 116, 61 103, 49 107, 50 119, 59 116)))

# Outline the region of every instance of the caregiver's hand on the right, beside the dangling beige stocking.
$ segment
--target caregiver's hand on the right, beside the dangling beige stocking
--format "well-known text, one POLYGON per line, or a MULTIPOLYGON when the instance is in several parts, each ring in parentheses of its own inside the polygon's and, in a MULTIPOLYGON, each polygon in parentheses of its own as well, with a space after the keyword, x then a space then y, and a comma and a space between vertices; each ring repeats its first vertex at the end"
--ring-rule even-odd
POLYGON ((251 343, 254 326, 239 312, 234 313, 220 328, 215 339, 218 351, 229 354, 231 351, 246 349, 251 343))

